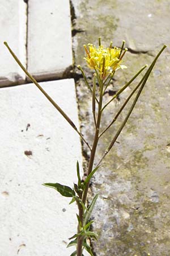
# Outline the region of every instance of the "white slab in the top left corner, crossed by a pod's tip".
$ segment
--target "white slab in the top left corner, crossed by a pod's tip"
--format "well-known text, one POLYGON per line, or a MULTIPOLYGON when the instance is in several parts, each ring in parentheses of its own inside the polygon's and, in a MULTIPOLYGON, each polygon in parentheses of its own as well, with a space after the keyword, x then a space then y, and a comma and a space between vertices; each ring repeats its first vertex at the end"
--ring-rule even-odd
POLYGON ((0 86, 21 84, 25 75, 12 59, 7 48, 7 41, 16 55, 26 63, 27 5, 21 0, 1 0, 0 8, 0 86))

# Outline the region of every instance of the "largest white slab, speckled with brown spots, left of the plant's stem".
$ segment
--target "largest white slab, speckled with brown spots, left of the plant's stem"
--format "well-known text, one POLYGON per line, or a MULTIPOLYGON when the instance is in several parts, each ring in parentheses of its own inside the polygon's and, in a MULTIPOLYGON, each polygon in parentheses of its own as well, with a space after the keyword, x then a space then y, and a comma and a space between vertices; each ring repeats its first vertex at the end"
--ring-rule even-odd
MULTIPOLYGON (((79 126, 74 80, 40 84, 79 126)), ((35 85, 1 88, 0 102, 0 255, 70 255, 76 206, 41 184, 73 187, 78 134, 35 85)))

